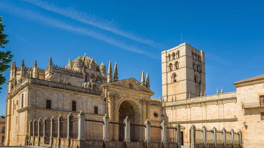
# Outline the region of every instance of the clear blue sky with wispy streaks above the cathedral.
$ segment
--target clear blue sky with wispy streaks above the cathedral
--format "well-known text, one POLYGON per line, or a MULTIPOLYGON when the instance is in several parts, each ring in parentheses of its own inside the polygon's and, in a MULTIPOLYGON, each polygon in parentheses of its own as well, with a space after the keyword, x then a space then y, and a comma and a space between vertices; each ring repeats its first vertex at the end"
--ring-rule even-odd
MULTIPOLYGON (((263 74, 263 1, 0 0, 10 50, 20 66, 46 68, 68 58, 116 61, 119 80, 149 71, 153 97, 162 96, 161 51, 182 42, 205 51, 206 92, 235 91, 233 82, 263 74)), ((113 62, 114 63, 114 62, 113 62)), ((9 79, 9 70, 4 73, 9 79)), ((0 93, 5 114, 6 84, 0 93)))

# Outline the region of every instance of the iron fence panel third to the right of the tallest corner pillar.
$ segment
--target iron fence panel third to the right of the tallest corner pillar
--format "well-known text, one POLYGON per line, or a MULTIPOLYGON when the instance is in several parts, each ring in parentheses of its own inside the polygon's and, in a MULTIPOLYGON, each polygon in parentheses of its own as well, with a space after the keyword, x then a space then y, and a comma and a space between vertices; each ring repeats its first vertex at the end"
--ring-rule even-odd
POLYGON ((130 123, 130 140, 131 142, 145 142, 145 124, 130 123))

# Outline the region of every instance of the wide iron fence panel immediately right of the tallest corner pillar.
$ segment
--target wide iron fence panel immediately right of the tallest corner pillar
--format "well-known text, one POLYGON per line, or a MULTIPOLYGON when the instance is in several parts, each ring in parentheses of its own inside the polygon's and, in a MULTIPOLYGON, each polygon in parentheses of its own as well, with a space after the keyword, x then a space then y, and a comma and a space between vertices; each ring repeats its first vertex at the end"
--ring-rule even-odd
POLYGON ((103 141, 103 125, 101 119, 87 118, 84 120, 84 138, 86 140, 103 141))

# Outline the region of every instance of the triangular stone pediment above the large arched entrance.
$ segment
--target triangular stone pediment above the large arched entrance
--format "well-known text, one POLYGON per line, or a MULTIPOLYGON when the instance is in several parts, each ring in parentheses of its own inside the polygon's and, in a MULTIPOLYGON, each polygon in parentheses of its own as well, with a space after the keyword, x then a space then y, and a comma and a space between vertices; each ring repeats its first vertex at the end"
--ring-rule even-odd
POLYGON ((138 82, 134 78, 125 79, 125 80, 119 80, 119 81, 114 81, 114 82, 109 82, 108 85, 118 86, 118 87, 122 87, 122 88, 125 88, 125 89, 143 91, 143 92, 154 94, 153 91, 151 91, 150 89, 146 88, 146 86, 144 86, 143 84, 141 84, 140 82, 138 82))

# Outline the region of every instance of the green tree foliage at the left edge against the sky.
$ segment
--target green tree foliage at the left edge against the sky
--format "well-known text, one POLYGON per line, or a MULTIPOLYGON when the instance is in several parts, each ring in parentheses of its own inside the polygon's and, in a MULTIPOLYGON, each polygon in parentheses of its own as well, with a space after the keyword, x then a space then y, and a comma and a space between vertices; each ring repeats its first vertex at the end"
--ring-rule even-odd
MULTIPOLYGON (((4 48, 9 41, 6 40, 8 37, 4 34, 4 27, 5 25, 2 24, 2 17, 0 16, 0 48, 4 48)), ((6 71, 10 66, 8 65, 11 62, 13 55, 11 55, 11 51, 3 52, 0 51, 0 85, 4 84, 6 79, 3 76, 3 72, 6 71)), ((0 90, 2 88, 0 87, 0 90)))

